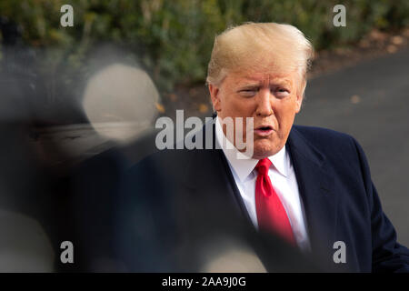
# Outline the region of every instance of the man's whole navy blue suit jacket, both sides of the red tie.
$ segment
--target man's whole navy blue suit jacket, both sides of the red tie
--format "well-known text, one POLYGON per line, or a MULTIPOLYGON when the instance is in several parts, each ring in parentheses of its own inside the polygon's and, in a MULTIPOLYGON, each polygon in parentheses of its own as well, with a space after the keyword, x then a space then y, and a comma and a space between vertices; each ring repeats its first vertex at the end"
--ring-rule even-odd
MULTIPOLYGON (((210 128, 205 125, 199 134, 210 128)), ((354 138, 329 129, 293 125, 285 146, 304 204, 312 246, 309 257, 319 263, 320 270, 409 272, 409 251, 396 242, 364 151, 354 138), (345 244, 345 263, 334 262, 337 241, 345 244)), ((186 260, 178 267, 164 262, 177 261, 186 254, 187 261, 193 262, 198 245, 210 234, 205 229, 223 232, 251 225, 220 149, 165 150, 148 156, 129 171, 124 193, 118 249, 134 271, 195 271, 186 260)), ((277 244, 269 249, 282 246, 277 244)), ((269 252, 265 248, 259 252, 264 265, 269 264, 266 256, 276 262, 282 254, 269 252)), ((278 270, 315 270, 308 264, 297 268, 297 255, 286 254, 280 261, 286 267, 278 270)))

